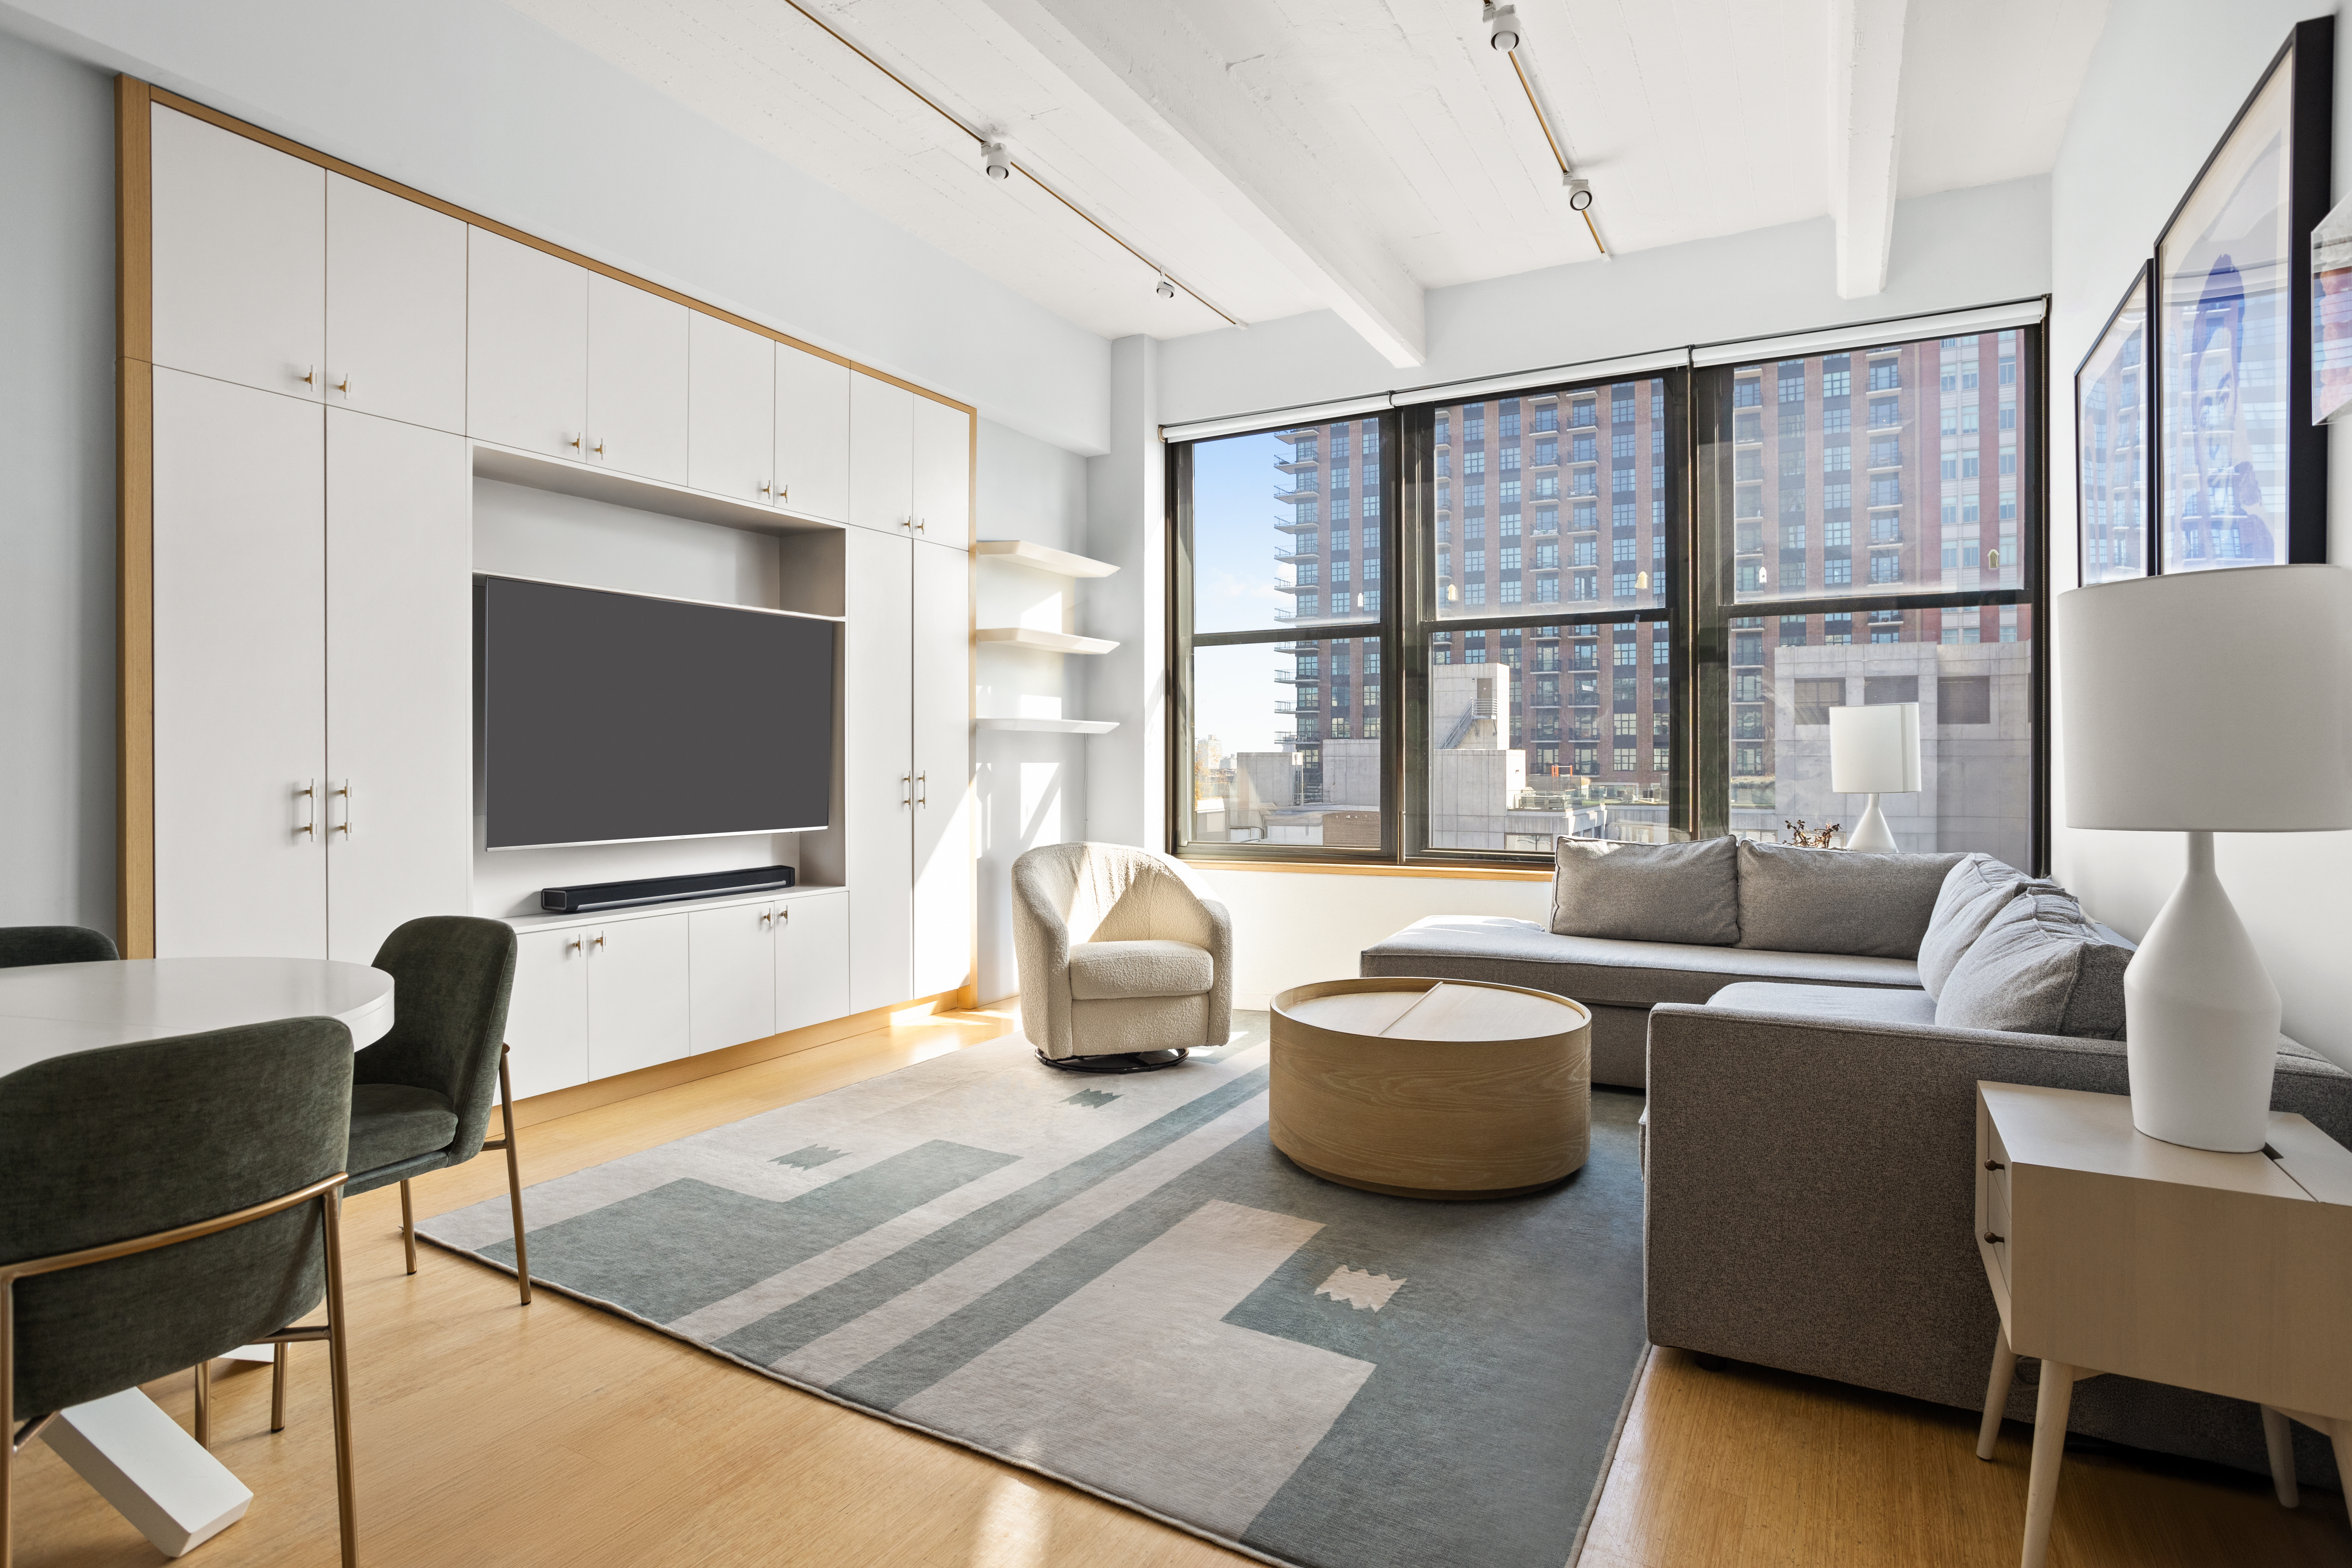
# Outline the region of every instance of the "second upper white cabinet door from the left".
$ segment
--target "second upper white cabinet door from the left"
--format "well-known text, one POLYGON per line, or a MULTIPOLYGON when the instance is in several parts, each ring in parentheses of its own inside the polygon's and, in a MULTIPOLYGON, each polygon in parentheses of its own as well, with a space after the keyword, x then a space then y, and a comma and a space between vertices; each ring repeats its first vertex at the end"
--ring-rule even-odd
POLYGON ((327 176, 327 404, 466 430, 466 226, 327 176))

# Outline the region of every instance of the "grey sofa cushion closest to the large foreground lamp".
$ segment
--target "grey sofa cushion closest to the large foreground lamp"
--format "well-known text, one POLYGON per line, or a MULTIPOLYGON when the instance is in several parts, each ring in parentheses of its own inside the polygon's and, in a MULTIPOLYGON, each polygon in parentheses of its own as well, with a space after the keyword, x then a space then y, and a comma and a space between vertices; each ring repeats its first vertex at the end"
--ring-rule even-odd
POLYGON ((2122 1039, 2129 961, 2131 947, 2103 940, 2072 896, 2034 884, 2004 903, 1969 943, 1936 997, 1936 1023, 2122 1039))

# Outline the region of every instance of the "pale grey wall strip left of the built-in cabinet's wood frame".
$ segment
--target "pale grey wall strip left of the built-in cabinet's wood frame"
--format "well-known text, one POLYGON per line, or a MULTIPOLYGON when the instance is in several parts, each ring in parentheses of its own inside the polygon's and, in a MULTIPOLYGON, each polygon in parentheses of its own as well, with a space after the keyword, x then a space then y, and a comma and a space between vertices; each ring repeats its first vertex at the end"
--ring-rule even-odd
POLYGON ((115 929, 113 82, 0 35, 0 924, 115 929))

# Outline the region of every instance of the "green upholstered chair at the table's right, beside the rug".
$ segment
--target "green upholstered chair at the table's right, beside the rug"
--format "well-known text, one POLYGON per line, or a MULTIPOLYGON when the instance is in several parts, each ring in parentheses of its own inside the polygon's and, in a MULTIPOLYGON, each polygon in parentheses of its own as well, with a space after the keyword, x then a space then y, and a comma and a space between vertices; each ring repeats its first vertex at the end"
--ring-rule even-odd
POLYGON ((515 931, 496 919, 428 914, 376 950, 393 976, 393 1032, 360 1051, 350 1086, 350 1187, 400 1182, 400 1237, 416 1272, 409 1178, 506 1150, 515 1208, 515 1279, 532 1305, 522 1251, 522 1161, 515 1152, 515 1086, 506 1070, 506 999, 515 987, 515 931), (499 1100, 503 1138, 485 1138, 499 1100))

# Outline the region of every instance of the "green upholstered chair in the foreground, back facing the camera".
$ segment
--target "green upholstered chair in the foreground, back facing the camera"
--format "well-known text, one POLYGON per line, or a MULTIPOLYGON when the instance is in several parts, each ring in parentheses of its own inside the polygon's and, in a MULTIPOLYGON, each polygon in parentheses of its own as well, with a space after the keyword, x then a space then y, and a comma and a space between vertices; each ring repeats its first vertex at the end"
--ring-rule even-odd
MULTIPOLYGON (((348 1135, 350 1030, 334 1018, 75 1051, 0 1077, 0 1559, 16 1453, 56 1410, 238 1345, 322 1338, 343 1563, 358 1563, 336 1208, 348 1135), (320 1300, 327 1324, 292 1328, 320 1300)), ((202 1441, 202 1410, 198 1425, 202 1441)))

